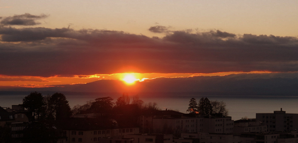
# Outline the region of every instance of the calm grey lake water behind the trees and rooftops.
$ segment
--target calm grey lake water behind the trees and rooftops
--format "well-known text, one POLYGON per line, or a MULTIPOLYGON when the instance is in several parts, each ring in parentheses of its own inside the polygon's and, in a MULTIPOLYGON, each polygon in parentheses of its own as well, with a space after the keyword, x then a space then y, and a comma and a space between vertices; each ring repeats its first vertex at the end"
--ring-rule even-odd
MULTIPOLYGON (((28 94, 27 94, 28 95, 28 94)), ((22 103, 27 95, 0 95, 0 106, 10 107, 22 103)), ((77 104, 83 105, 87 101, 110 96, 116 102, 121 95, 65 95, 71 108, 77 104)), ((202 97, 209 100, 224 101, 232 120, 241 117, 255 118, 256 113, 273 113, 283 108, 286 113, 298 114, 298 96, 223 96, 223 95, 139 95, 145 103, 156 102, 160 109, 179 110, 186 113, 191 98, 197 102, 202 97)), ((132 97, 131 97, 132 101, 132 97)))

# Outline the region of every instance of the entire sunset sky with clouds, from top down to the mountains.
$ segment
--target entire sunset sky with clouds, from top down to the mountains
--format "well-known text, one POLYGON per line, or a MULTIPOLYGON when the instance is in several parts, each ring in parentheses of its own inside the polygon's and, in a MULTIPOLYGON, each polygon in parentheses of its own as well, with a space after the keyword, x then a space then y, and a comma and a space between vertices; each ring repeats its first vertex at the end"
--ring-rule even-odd
POLYGON ((298 1, 0 0, 0 86, 298 71, 298 1))

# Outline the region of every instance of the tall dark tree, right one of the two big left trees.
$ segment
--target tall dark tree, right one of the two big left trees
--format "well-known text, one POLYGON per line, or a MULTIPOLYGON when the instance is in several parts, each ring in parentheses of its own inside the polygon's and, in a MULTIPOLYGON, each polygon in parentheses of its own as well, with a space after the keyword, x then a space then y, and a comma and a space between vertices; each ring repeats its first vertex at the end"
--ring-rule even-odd
POLYGON ((55 93, 49 98, 49 110, 55 120, 67 119, 72 115, 68 101, 62 93, 55 93))

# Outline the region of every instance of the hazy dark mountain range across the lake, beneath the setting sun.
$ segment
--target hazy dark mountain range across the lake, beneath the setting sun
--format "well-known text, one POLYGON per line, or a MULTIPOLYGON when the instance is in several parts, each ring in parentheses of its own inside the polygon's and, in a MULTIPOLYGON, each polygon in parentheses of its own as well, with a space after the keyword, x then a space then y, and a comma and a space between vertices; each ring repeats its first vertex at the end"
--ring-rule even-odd
POLYGON ((46 88, 0 87, 0 94, 28 91, 294 96, 298 95, 298 73, 155 78, 136 82, 133 85, 126 85, 120 80, 100 80, 87 84, 59 85, 59 87, 46 88))

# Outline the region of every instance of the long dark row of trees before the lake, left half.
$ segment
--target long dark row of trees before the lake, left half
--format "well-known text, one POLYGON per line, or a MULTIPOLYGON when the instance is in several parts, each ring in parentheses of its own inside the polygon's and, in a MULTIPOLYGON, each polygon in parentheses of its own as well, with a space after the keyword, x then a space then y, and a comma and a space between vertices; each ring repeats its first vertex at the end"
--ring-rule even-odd
POLYGON ((139 113, 141 110, 160 110, 157 103, 144 103, 138 95, 133 96, 132 101, 128 94, 123 93, 112 102, 111 97, 101 97, 90 100, 84 105, 75 105, 72 109, 62 93, 42 96, 39 92, 31 92, 23 99, 24 108, 32 113, 34 120, 67 120, 74 114, 97 113, 100 116, 111 114, 139 113))

